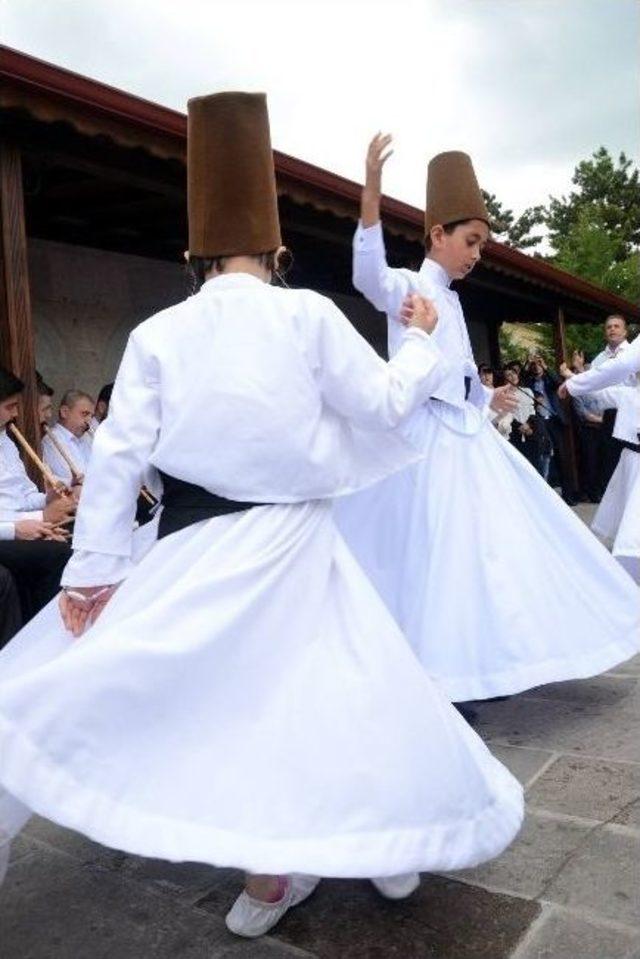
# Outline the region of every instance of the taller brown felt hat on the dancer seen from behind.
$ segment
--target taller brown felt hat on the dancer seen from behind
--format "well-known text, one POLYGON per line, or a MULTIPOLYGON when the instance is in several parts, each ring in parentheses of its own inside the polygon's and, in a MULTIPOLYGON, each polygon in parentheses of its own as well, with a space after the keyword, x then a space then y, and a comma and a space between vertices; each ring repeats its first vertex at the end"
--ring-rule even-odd
POLYGON ((214 93, 188 104, 189 254, 267 253, 281 246, 264 93, 214 93))

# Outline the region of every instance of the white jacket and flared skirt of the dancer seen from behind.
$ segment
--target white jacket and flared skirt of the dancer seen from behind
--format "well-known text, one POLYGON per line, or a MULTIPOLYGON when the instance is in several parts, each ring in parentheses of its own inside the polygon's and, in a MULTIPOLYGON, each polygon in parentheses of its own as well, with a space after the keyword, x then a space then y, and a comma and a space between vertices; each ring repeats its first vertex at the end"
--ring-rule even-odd
POLYGON ((329 301, 242 275, 134 332, 66 572, 127 578, 80 640, 50 606, 0 653, 0 828, 22 802, 132 853, 329 876, 458 868, 511 841, 520 786, 420 668, 331 513, 416 459, 392 427, 442 366, 419 332, 386 366, 329 301), (147 459, 273 505, 136 562, 147 459))

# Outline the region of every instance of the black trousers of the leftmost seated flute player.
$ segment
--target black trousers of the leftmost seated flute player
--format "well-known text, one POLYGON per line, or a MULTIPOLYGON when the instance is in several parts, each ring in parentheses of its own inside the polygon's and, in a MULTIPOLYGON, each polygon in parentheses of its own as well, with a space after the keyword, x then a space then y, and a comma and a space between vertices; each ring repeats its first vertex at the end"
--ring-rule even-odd
POLYGON ((62 570, 70 556, 71 547, 66 543, 42 539, 0 541, 0 564, 13 576, 24 623, 57 595, 62 570))

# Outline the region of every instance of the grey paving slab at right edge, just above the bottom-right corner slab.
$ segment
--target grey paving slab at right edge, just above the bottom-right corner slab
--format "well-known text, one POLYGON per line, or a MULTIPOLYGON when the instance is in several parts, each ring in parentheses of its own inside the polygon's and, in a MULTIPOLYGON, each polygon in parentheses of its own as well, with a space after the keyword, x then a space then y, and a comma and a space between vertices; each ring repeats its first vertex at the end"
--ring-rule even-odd
POLYGON ((599 827, 565 863, 544 898, 640 929, 639 864, 640 836, 599 827))

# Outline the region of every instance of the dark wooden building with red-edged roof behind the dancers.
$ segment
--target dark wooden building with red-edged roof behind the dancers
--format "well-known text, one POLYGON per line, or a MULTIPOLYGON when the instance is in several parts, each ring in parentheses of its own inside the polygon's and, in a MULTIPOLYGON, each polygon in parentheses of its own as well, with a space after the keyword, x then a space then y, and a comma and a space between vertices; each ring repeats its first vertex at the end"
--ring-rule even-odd
MULTIPOLYGON (((29 386, 24 428, 37 436, 34 370, 56 388, 96 392, 113 379, 128 332, 183 298, 186 117, 0 47, 0 350, 29 386)), ((327 293, 384 352, 385 325, 351 284, 360 185, 275 154, 293 286, 327 293)), ((383 201, 391 264, 421 262, 422 212, 383 201)), ((542 260, 489 242, 460 286, 476 359, 499 363, 503 321, 564 324, 635 305, 542 260)))

